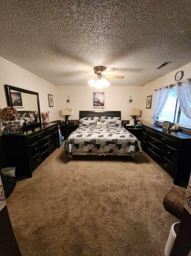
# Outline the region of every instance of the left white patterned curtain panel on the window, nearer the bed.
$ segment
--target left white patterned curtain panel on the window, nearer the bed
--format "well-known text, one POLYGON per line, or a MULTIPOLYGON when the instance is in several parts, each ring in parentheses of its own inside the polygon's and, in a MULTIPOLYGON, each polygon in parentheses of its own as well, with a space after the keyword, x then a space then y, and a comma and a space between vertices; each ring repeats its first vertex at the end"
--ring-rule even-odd
POLYGON ((166 86, 164 86, 154 91, 154 95, 152 98, 152 107, 151 107, 151 124, 155 123, 155 119, 159 116, 160 112, 163 110, 170 90, 172 90, 171 85, 169 85, 167 88, 166 86))

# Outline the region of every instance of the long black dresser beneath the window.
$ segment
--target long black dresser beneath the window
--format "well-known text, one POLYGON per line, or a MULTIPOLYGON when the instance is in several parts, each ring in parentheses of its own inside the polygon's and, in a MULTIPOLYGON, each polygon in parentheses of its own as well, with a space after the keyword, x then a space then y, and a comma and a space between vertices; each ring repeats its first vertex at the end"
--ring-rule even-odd
POLYGON ((182 132, 163 130, 155 125, 143 125, 143 151, 174 179, 188 183, 191 171, 191 136, 182 132))

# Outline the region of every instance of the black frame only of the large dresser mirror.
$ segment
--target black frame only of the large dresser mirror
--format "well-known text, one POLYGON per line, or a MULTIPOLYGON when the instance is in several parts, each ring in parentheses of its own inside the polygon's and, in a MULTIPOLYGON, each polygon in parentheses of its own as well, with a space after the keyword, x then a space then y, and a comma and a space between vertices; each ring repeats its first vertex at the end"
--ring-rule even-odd
MULTIPOLYGON (((29 91, 29 90, 26 90, 26 89, 22 89, 22 88, 19 88, 19 87, 11 86, 11 85, 4 85, 4 89, 5 89, 5 96, 6 96, 7 106, 10 106, 10 107, 13 107, 12 99, 11 99, 11 90, 22 92, 22 93, 37 95, 39 122, 34 123, 34 125, 36 126, 36 125, 41 124, 41 113, 40 113, 40 103, 39 103, 39 94, 38 93, 33 92, 33 91, 29 91)), ((22 126, 22 127, 30 127, 30 126, 31 126, 31 124, 27 124, 27 125, 22 126)))

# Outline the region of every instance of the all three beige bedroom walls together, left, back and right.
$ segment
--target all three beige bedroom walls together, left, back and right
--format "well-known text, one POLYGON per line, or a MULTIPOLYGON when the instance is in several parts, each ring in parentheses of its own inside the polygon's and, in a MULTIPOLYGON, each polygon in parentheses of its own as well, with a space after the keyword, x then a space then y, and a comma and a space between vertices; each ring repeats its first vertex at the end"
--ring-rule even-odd
MULTIPOLYGON (((110 86, 104 89, 95 89, 89 85, 84 86, 55 86, 48 81, 22 69, 21 67, 0 57, 0 109, 7 106, 4 84, 32 90, 39 93, 40 111, 50 111, 50 121, 62 119, 62 108, 72 108, 69 119, 78 119, 79 110, 93 109, 93 92, 105 93, 105 109, 119 110, 123 120, 129 120, 129 109, 140 108, 143 120, 151 121, 151 109, 146 109, 146 97, 153 95, 156 88, 175 82, 174 76, 177 71, 183 70, 182 80, 191 77, 191 63, 160 77, 143 87, 140 86, 110 86), (48 107, 48 94, 53 95, 54 107, 48 107), (70 96, 70 104, 66 103, 70 96), (129 96, 133 102, 128 104, 129 96)), ((101 111, 101 110, 100 110, 101 111)), ((3 120, 0 120, 2 122, 3 120)))

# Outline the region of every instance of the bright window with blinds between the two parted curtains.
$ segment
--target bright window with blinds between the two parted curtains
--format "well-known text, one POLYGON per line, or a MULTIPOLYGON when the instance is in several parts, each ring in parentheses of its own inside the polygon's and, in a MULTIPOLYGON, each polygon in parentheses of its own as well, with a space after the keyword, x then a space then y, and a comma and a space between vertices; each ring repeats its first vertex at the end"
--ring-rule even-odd
POLYGON ((164 109, 158 116, 158 121, 170 121, 182 127, 191 128, 191 119, 187 118, 180 109, 176 89, 172 89, 169 93, 164 109))

